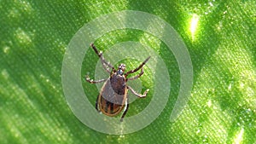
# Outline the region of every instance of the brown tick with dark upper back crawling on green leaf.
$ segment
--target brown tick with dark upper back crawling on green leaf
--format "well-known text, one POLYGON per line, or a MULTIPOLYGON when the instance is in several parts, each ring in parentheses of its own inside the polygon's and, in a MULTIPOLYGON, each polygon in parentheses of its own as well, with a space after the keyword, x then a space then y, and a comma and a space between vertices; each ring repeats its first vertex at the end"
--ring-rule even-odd
POLYGON ((96 111, 113 117, 122 112, 122 110, 124 110, 120 118, 120 121, 122 122, 129 108, 129 98, 127 95, 128 89, 130 89, 131 93, 137 95, 137 97, 139 98, 146 97, 149 91, 149 89, 147 89, 146 91, 144 91, 143 95, 138 94, 134 89, 127 85, 127 81, 140 78, 143 75, 143 66, 146 64, 146 62, 148 62, 150 56, 146 60, 144 60, 140 66, 137 66, 137 68, 125 72, 125 64, 120 64, 118 68, 115 69, 112 64, 104 59, 102 52, 99 52, 93 43, 90 44, 90 47, 94 49, 96 55, 98 55, 101 59, 103 68, 110 75, 109 78, 101 80, 93 80, 90 79, 88 75, 86 76, 86 81, 90 84, 105 82, 102 86, 100 94, 97 96, 96 99, 96 111), (137 74, 137 76, 127 78, 129 74, 137 72, 139 70, 141 70, 141 72, 137 74))

